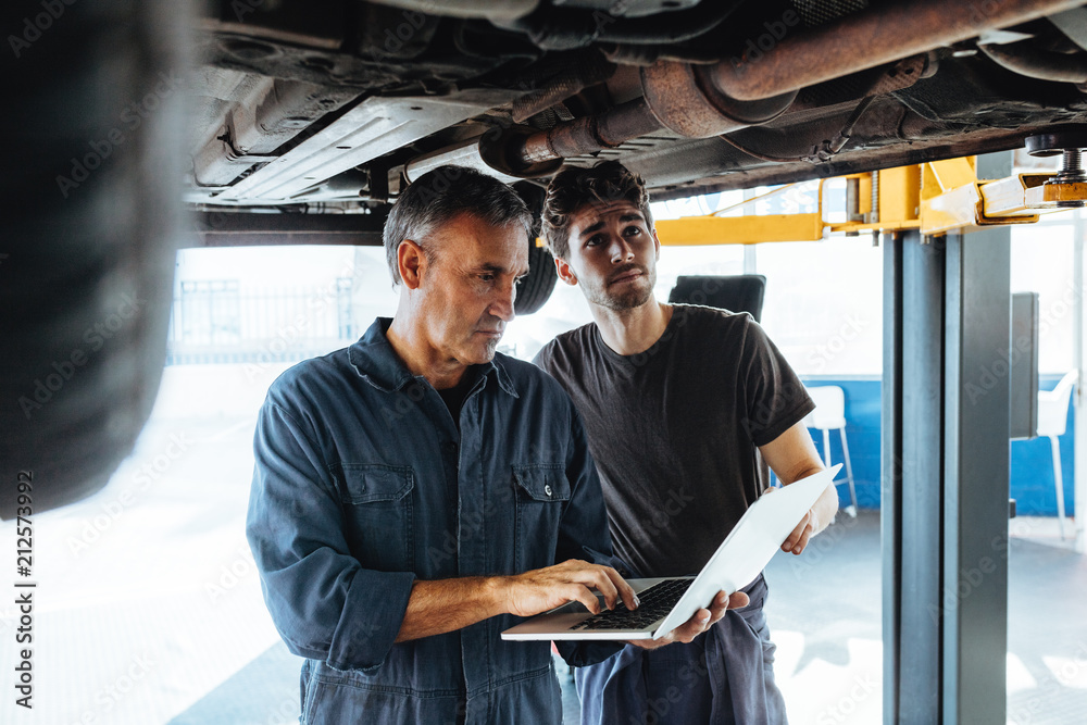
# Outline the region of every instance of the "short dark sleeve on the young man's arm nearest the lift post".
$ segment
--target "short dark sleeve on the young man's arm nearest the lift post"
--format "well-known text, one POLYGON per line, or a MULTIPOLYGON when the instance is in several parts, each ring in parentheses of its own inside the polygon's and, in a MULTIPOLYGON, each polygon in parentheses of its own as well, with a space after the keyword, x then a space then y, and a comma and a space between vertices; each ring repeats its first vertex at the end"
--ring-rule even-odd
POLYGON ((762 326, 747 318, 738 382, 746 404, 744 427, 765 446, 815 409, 803 383, 762 326))

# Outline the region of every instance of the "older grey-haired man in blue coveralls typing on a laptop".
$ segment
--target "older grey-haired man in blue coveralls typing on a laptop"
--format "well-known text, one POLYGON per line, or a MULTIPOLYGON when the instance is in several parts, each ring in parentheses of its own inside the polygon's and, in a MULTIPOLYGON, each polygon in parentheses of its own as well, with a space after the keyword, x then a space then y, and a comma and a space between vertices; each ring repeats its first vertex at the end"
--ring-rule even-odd
MULTIPOLYGON (((637 605, 589 563, 611 543, 576 410, 495 351, 530 226, 497 179, 424 175, 385 228, 396 315, 268 391, 248 536, 272 618, 307 658, 303 723, 559 723, 547 643, 501 630, 571 600, 598 611, 597 592, 637 605)), ((720 618, 714 604, 676 638, 720 618)))

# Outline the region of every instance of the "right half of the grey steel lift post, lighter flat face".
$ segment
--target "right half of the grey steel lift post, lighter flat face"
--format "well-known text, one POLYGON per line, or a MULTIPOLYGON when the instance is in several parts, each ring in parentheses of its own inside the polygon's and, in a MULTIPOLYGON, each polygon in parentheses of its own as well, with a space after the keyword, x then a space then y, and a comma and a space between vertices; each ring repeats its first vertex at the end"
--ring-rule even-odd
POLYGON ((944 721, 1003 723, 1010 229, 948 237, 944 721))

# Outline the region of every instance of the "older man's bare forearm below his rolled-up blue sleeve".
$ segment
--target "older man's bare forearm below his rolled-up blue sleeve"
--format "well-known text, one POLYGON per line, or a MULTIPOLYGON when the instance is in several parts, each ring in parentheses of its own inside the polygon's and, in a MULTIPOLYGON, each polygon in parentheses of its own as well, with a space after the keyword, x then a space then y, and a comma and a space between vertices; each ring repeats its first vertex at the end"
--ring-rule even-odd
POLYGON ((501 578, 466 576, 415 582, 396 641, 443 635, 503 614, 501 578))

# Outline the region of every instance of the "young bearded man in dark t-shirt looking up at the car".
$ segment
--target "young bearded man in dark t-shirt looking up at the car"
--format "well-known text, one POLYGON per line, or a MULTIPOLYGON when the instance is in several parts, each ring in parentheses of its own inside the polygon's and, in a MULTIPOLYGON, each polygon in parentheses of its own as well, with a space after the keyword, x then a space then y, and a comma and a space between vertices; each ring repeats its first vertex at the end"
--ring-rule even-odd
MULTIPOLYGON (((560 171, 544 232, 596 322, 536 362, 585 421, 615 553, 637 576, 694 574, 762 495, 757 450, 785 484, 823 468, 801 423, 814 405, 749 315, 654 298, 649 198, 620 163, 560 171)), ((783 549, 803 551, 837 507, 828 487, 783 549)), ((582 723, 785 723, 762 576, 746 591, 705 637, 580 668, 582 723)))

